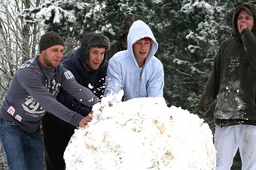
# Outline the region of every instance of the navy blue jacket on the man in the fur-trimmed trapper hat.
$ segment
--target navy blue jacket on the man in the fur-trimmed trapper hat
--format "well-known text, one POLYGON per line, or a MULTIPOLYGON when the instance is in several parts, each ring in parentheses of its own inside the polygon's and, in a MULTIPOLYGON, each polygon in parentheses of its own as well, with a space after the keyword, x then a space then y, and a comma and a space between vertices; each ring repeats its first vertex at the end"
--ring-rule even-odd
MULTIPOLYGON (((99 98, 102 98, 105 91, 105 76, 108 67, 108 61, 102 61, 102 64, 99 66, 98 70, 89 73, 84 69, 81 61, 78 58, 78 55, 79 49, 77 49, 72 55, 70 55, 69 58, 66 58, 64 61, 62 61, 63 66, 73 73, 75 79, 80 85, 89 88, 90 91, 93 92, 93 94, 95 94, 99 98)), ((63 91, 62 89, 60 89, 59 94, 56 98, 64 106, 74 112, 78 112, 78 114, 83 116, 87 116, 92 109, 88 106, 81 104, 80 102, 78 102, 78 100, 76 100, 74 97, 72 97, 70 94, 66 93, 66 91, 63 91)), ((48 115, 52 118, 57 126, 64 129, 67 133, 74 133, 75 126, 66 123, 65 121, 62 121, 61 119, 57 118, 52 114, 48 115)))

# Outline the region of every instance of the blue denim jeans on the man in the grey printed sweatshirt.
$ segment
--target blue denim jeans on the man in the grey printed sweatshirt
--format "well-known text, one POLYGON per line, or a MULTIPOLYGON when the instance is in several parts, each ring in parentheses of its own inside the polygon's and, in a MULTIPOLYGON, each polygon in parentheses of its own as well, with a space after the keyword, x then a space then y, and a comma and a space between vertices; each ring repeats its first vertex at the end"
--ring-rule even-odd
POLYGON ((11 121, 0 118, 0 139, 10 170, 42 170, 43 141, 40 130, 27 133, 11 121))

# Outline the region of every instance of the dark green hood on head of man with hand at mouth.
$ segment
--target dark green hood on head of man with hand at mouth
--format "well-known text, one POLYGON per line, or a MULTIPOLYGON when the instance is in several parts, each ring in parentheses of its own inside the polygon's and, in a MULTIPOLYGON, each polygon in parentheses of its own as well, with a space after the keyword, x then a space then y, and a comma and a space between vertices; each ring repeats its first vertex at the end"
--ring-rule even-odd
POLYGON ((251 2, 245 2, 243 4, 240 4, 234 10, 233 19, 232 19, 232 29, 233 29, 232 32, 233 32, 233 34, 239 35, 239 31, 237 30, 236 21, 237 21, 237 16, 238 16, 238 14, 241 10, 246 10, 249 15, 254 17, 254 28, 252 28, 251 32, 254 35, 256 35, 256 27, 255 27, 255 24, 256 24, 256 7, 251 2))

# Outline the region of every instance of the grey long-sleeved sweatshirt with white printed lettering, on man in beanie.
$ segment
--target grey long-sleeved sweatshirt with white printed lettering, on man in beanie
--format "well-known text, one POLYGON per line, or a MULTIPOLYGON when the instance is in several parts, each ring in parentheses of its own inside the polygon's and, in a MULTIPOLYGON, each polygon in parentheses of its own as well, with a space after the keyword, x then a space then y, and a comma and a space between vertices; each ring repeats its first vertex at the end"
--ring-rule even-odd
POLYGON ((44 67, 37 56, 22 64, 15 73, 0 110, 0 117, 15 122, 29 133, 38 130, 45 112, 78 127, 83 116, 56 100, 60 87, 86 106, 91 107, 99 102, 99 98, 88 88, 79 85, 62 64, 50 69, 44 67))

